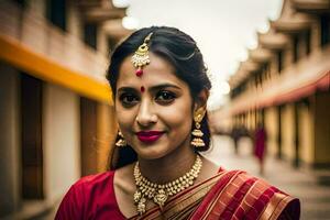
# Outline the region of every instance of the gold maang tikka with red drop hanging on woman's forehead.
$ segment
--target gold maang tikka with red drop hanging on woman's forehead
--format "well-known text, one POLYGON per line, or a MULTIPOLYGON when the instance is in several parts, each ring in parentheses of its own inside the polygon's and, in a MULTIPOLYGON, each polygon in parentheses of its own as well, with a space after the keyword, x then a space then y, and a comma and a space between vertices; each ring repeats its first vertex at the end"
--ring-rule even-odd
POLYGON ((147 36, 144 38, 143 44, 141 44, 135 51, 134 55, 132 56, 132 63, 136 69, 135 74, 136 76, 142 76, 143 75, 143 66, 146 66, 150 64, 150 58, 148 58, 148 42, 151 36, 153 35, 153 32, 147 34, 147 36))

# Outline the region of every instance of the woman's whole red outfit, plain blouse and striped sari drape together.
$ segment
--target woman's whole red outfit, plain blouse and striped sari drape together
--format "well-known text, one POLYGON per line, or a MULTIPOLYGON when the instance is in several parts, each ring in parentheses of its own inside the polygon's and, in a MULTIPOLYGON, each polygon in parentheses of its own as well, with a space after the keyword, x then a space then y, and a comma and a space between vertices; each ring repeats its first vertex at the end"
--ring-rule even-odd
MULTIPOLYGON (((119 210, 113 174, 80 179, 63 199, 55 219, 112 219, 125 217, 119 210)), ((241 170, 220 170, 216 176, 130 219, 299 219, 300 205, 262 179, 241 170)))

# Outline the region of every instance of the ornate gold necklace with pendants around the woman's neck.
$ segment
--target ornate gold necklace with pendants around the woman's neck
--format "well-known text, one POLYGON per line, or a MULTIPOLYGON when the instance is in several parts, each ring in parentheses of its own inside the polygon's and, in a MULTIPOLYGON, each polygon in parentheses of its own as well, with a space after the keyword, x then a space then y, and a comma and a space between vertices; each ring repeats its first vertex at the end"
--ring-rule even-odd
POLYGON ((170 183, 161 185, 152 183, 142 176, 139 168, 139 162, 136 162, 134 167, 134 178, 136 185, 134 204, 139 215, 143 215, 145 212, 146 199, 153 200, 160 206, 161 209, 163 209, 168 196, 174 196, 194 184, 194 180, 197 178, 201 169, 201 158, 199 155, 197 155, 195 163, 188 173, 170 183))

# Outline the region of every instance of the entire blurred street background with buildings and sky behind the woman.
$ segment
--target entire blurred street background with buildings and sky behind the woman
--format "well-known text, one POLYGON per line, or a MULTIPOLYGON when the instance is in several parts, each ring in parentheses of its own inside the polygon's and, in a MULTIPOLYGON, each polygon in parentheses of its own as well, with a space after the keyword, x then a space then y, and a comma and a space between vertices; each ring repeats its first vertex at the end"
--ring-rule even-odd
POLYGON ((54 219, 73 183, 107 170, 109 54, 150 25, 205 55, 206 156, 300 198, 301 219, 330 219, 330 0, 0 0, 0 219, 54 219))

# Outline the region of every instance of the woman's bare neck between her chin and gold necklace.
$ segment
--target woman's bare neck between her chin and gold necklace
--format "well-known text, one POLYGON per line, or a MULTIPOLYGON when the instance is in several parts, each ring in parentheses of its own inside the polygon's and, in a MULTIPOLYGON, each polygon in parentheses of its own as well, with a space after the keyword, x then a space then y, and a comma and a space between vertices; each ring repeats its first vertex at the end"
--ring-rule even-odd
POLYGON ((165 184, 190 170, 196 160, 190 146, 180 146, 168 155, 156 160, 139 157, 141 174, 152 183, 165 184), (175 170, 175 172, 174 172, 175 170))

